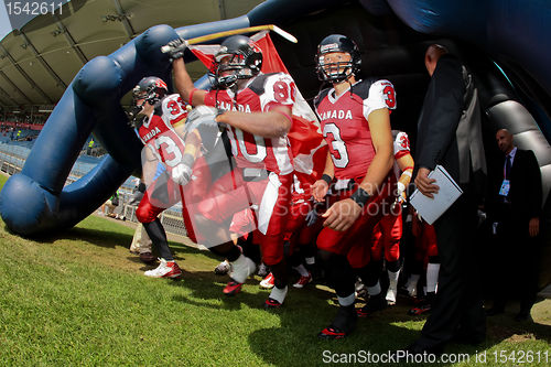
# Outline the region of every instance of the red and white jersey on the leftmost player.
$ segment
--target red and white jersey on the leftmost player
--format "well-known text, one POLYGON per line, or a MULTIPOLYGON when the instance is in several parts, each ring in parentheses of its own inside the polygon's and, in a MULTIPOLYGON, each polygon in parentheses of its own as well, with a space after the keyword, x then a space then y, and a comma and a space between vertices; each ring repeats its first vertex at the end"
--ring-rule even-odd
POLYGON ((147 147, 152 149, 169 173, 182 161, 184 142, 176 134, 173 125, 184 121, 187 109, 180 95, 164 97, 155 106, 153 115, 138 129, 138 134, 147 147))

